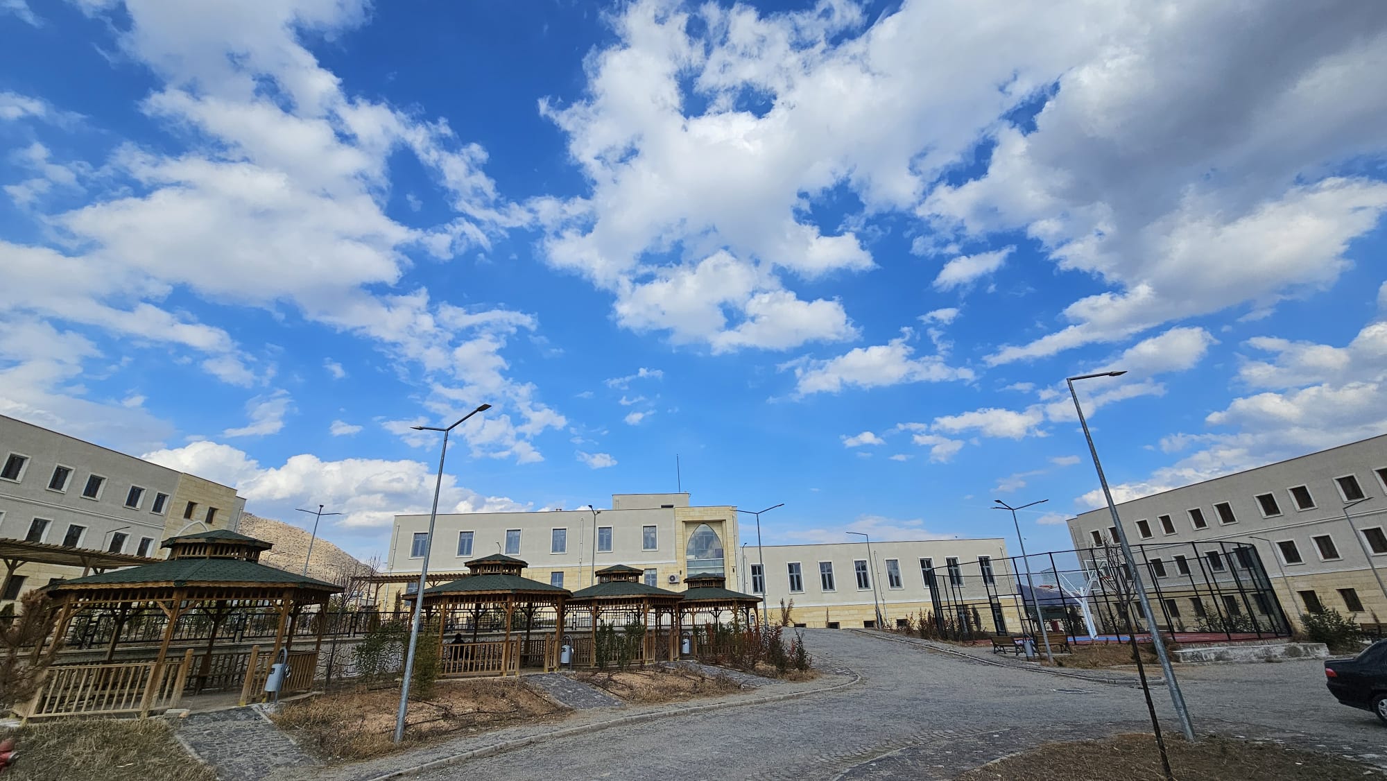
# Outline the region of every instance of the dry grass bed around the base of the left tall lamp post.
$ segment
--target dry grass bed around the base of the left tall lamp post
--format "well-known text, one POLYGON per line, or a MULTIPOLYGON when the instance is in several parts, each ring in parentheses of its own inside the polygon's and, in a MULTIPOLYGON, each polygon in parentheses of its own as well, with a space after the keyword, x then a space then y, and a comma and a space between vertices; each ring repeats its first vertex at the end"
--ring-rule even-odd
POLYGON ((313 753, 337 762, 517 723, 558 720, 567 713, 515 678, 438 681, 433 698, 409 703, 405 739, 397 745, 391 737, 398 706, 397 689, 351 691, 288 703, 270 719, 313 753))

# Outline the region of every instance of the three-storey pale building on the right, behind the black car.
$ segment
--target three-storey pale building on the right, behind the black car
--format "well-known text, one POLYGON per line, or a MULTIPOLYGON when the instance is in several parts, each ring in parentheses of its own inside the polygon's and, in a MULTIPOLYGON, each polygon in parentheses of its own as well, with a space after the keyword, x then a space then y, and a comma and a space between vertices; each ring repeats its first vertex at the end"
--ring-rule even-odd
MULTIPOLYGON (((1226 572, 1215 548, 1239 542, 1257 549, 1290 619, 1325 608, 1387 617, 1387 434, 1122 502, 1118 516, 1133 545, 1197 551, 1148 563, 1150 587, 1190 566, 1226 572)), ((1068 523, 1076 548, 1115 541, 1107 508, 1068 523)))

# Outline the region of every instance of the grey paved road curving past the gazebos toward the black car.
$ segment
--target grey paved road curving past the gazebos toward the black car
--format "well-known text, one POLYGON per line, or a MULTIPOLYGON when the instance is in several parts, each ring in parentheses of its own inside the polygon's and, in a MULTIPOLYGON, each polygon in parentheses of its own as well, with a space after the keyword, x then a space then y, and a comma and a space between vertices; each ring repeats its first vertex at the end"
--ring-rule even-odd
MULTIPOLYGON (((753 707, 662 719, 458 763, 417 778, 951 778, 1050 741, 1146 726, 1140 689, 990 667, 857 633, 807 633, 820 660, 860 685, 753 707)), ((1369 713, 1333 703, 1316 662, 1186 671, 1204 730, 1380 750, 1369 713), (1247 724, 1246 727, 1243 724, 1247 724)), ((1175 732, 1165 689, 1154 692, 1175 732)))

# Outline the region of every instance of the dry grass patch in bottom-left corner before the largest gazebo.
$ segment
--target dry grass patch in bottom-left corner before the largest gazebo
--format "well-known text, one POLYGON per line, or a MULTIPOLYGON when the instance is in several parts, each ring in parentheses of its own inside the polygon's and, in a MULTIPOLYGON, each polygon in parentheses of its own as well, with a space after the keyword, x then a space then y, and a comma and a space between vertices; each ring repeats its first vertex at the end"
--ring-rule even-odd
POLYGON ((216 781, 173 739, 162 719, 62 719, 0 730, 19 760, 6 781, 216 781))

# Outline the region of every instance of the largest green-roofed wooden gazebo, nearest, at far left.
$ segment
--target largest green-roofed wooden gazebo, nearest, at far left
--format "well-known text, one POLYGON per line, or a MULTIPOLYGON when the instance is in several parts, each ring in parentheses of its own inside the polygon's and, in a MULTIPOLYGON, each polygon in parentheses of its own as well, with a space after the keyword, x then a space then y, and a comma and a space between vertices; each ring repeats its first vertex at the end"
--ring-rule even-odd
POLYGON ((341 587, 259 563, 261 552, 272 545, 234 531, 172 537, 162 547, 169 548, 165 560, 47 587, 58 609, 55 638, 65 637, 74 620, 90 613, 108 613, 114 627, 105 660, 50 667, 33 699, 17 709, 24 717, 147 716, 151 710, 176 706, 190 681, 200 692, 240 691, 244 705, 262 694, 269 666, 276 660, 288 663, 283 691, 311 687, 325 621, 316 621, 312 651, 290 648, 295 624, 305 606, 325 606, 341 587), (158 645, 137 640, 122 648, 122 627, 144 612, 164 621, 158 645), (245 613, 275 620, 273 644, 219 652, 219 627, 232 616, 244 619, 245 613), (190 623, 211 624, 205 641, 201 631, 180 633, 190 623), (198 637, 182 648, 182 653, 171 653, 180 634, 198 637), (118 651, 121 659, 117 659, 118 651))

